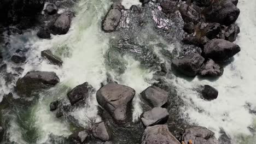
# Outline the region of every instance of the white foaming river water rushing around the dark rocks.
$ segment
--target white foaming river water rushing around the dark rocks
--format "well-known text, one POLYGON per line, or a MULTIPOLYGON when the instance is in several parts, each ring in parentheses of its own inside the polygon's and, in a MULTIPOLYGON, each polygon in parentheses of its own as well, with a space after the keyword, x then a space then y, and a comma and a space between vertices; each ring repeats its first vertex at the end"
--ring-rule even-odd
MULTIPOLYGON (((14 106, 13 110, 6 112, 10 142, 61 143, 62 138, 59 140, 58 136, 70 135, 72 125, 56 118, 55 114, 49 111, 51 101, 67 99, 66 93, 70 88, 86 81, 98 89, 101 82, 107 82, 108 75, 114 81, 136 90, 136 97, 133 100, 133 121, 141 115, 139 93, 154 82, 154 70, 142 67, 142 61, 131 55, 113 52, 111 41, 116 35, 106 34, 101 30, 102 17, 111 4, 110 0, 81 0, 74 6, 77 14, 66 35, 56 35, 51 40, 39 40, 35 32, 28 31, 23 35, 9 38, 11 51, 19 49, 20 46, 30 48, 26 54, 28 58, 26 64, 21 65, 24 68, 21 76, 31 70, 54 71, 61 81, 56 87, 37 95, 38 99, 30 99, 30 105, 14 106), (62 67, 50 65, 40 58, 40 52, 47 49, 51 49, 62 58, 62 67), (108 58, 118 59, 118 66, 113 67, 111 64, 115 62, 110 62, 111 59, 108 58)), ((125 8, 129 8, 132 4, 140 3, 123 1, 125 8)), ((255 0, 240 0, 238 3, 241 14, 237 23, 241 33, 235 43, 241 46, 241 52, 232 59, 231 63, 225 65, 223 76, 217 80, 205 80, 199 77, 188 80, 184 77, 171 76, 172 79, 167 80, 184 100, 185 104, 181 107, 183 116, 186 116, 184 118, 189 118, 190 123, 197 123, 213 130, 217 137, 220 136, 220 129, 223 129, 231 137, 232 143, 252 144, 256 141, 255 132, 248 129, 248 127, 256 127, 255 115, 249 111, 256 107, 255 7, 255 0), (195 91, 196 87, 206 84, 218 89, 219 97, 216 100, 202 100, 195 91)), ((165 40, 159 39, 159 41, 164 45, 167 44, 165 40)), ((167 44, 166 49, 173 50, 173 45, 167 44)), ((165 59, 161 57, 162 55, 158 55, 158 50, 154 52, 160 59, 165 59)), ((7 70, 14 73, 15 65, 5 62, 8 63, 7 70)), ((4 85, 5 81, 1 81, 1 93, 11 92, 15 80, 9 85, 4 85)), ((14 95, 14 97, 18 96, 14 95)), ((84 109, 76 109, 72 112, 72 116, 80 125, 86 126, 88 118, 97 117, 95 94, 91 95, 89 104, 84 109)), ((100 121, 100 117, 97 117, 97 121, 100 121)))

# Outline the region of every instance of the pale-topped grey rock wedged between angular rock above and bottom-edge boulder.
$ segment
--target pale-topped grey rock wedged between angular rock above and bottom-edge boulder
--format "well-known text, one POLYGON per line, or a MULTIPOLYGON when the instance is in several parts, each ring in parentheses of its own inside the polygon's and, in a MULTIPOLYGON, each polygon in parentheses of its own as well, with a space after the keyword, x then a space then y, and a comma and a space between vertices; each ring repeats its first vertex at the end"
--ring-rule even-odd
POLYGON ((156 124, 164 124, 169 117, 167 109, 154 107, 152 110, 144 112, 141 117, 142 123, 148 127, 156 124))

